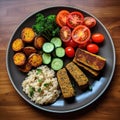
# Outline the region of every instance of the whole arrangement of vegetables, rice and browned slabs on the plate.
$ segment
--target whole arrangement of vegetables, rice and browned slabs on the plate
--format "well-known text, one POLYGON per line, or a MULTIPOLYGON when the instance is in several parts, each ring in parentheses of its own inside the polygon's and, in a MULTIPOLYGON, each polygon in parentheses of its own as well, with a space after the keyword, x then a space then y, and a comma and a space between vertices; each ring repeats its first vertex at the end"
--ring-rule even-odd
POLYGON ((97 77, 106 64, 97 55, 104 35, 91 33, 96 24, 79 11, 60 10, 56 15, 38 13, 35 23, 21 31, 12 42, 13 61, 27 74, 22 87, 32 101, 53 103, 60 93, 64 99, 74 97, 71 76, 81 90, 89 88, 86 73, 97 77))

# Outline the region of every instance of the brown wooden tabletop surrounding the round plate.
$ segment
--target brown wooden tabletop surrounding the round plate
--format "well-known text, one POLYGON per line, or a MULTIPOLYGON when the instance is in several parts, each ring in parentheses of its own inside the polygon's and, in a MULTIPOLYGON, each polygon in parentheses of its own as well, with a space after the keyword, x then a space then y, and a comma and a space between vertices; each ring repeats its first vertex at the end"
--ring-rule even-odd
POLYGON ((120 1, 119 0, 0 0, 0 120, 118 120, 120 116, 120 1), (67 5, 95 15, 110 32, 116 49, 116 70, 106 92, 85 110, 52 114, 33 108, 13 88, 6 71, 10 37, 25 17, 40 9, 67 5))

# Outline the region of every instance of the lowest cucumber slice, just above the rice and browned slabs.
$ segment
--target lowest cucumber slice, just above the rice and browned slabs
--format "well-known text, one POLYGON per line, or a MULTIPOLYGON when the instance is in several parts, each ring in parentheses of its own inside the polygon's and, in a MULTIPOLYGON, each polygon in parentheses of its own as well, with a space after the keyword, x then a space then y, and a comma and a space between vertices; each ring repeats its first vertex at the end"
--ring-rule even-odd
POLYGON ((55 71, 60 70, 63 67, 63 60, 60 58, 54 58, 51 62, 51 68, 55 71))

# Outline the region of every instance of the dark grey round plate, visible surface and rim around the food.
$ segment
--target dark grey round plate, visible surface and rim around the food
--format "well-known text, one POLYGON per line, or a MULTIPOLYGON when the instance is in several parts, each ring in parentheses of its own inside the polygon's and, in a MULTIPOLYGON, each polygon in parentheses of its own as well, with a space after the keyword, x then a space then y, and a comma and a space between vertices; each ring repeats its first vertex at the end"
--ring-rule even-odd
POLYGON ((20 37, 21 31, 24 27, 31 27, 34 22, 35 22, 35 16, 37 13, 43 13, 44 15, 49 15, 49 14, 57 14, 58 11, 66 9, 69 11, 80 11, 84 14, 84 16, 92 16, 90 13, 76 9, 73 7, 51 7, 47 8, 44 10, 40 10, 32 15, 30 15, 27 19, 25 19, 15 30, 13 33, 11 40, 8 44, 8 49, 7 49, 7 54, 6 54, 6 64, 7 64, 7 71, 9 78, 12 82, 12 85, 16 89, 16 91, 19 93, 19 95, 28 103, 33 105, 34 107, 38 109, 42 109, 45 111, 49 112, 55 112, 55 113, 67 113, 67 112, 73 112, 76 110, 83 109, 93 103, 95 100, 97 100, 106 90, 108 87, 109 83, 111 82, 114 69, 115 69, 115 49, 113 45, 113 41, 110 37, 110 34, 108 33, 107 29, 104 27, 104 25, 95 17, 97 20, 97 25, 95 28, 92 30, 92 33, 95 32, 101 32, 105 35, 105 42, 104 44, 100 47, 100 52, 99 55, 103 56, 106 58, 107 63, 106 66, 99 78, 91 78, 88 76, 91 86, 92 86, 92 91, 87 90, 84 92, 81 92, 77 87, 76 87, 76 92, 77 95, 75 96, 75 99, 71 102, 65 101, 62 97, 60 97, 55 103, 48 105, 48 106, 40 106, 35 104, 34 102, 30 101, 30 99, 27 97, 27 95, 22 91, 22 86, 21 83, 26 77, 26 74, 23 74, 20 72, 17 67, 13 63, 13 50, 11 49, 11 44, 13 40, 16 38, 20 37))

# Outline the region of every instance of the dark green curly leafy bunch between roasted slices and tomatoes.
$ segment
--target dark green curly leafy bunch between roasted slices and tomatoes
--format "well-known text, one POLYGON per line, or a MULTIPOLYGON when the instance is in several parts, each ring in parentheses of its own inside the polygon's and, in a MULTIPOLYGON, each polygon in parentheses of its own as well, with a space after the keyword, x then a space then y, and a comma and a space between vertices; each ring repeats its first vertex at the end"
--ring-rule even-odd
POLYGON ((56 24, 56 15, 45 17, 41 13, 36 15, 35 24, 32 28, 38 35, 45 37, 48 41, 52 37, 58 36, 60 31, 60 28, 56 24))

